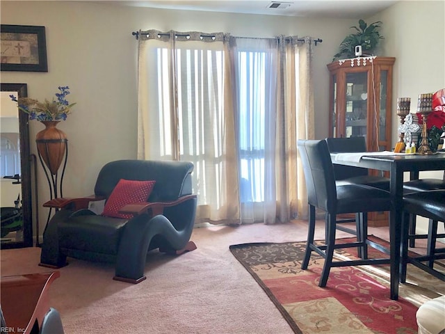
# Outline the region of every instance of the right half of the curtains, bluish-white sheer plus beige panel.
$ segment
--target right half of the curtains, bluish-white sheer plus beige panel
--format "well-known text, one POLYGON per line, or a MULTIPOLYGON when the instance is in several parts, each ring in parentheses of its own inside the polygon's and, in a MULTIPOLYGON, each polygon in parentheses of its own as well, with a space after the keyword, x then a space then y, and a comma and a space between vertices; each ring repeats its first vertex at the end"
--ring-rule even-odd
POLYGON ((232 39, 241 222, 305 217, 296 143, 314 138, 312 40, 232 39))

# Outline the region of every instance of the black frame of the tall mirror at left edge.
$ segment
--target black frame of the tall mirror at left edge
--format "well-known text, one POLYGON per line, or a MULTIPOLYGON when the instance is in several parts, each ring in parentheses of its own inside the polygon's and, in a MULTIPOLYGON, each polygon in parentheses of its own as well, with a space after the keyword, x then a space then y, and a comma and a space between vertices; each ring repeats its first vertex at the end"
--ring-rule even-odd
MULTIPOLYGON (((17 97, 28 96, 27 84, 0 84, 1 91, 17 92, 17 97)), ((19 113, 20 168, 22 172, 22 213, 23 241, 11 241, 1 244, 1 249, 23 248, 33 246, 33 214, 31 202, 31 152, 29 149, 28 115, 17 109, 19 113)))

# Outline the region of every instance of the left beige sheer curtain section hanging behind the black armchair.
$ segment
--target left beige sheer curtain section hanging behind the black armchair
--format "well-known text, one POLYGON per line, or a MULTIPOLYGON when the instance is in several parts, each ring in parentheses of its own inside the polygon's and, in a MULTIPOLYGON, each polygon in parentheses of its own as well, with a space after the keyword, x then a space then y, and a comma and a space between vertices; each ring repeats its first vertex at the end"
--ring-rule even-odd
POLYGON ((197 222, 239 223, 229 64, 222 33, 139 33, 138 159, 191 161, 197 222))

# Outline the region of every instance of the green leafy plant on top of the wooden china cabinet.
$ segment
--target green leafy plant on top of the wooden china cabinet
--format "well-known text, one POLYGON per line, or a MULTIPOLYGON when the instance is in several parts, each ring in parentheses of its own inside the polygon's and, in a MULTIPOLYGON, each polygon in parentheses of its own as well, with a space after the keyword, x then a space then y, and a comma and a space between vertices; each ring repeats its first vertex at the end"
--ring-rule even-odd
POLYGON ((365 54, 370 53, 377 47, 379 40, 383 37, 378 32, 382 22, 377 21, 371 24, 366 24, 363 19, 359 19, 359 26, 351 26, 351 29, 355 29, 356 33, 347 35, 346 38, 340 44, 340 50, 338 54, 334 55, 333 61, 341 58, 354 58, 355 47, 362 45, 362 52, 365 54))

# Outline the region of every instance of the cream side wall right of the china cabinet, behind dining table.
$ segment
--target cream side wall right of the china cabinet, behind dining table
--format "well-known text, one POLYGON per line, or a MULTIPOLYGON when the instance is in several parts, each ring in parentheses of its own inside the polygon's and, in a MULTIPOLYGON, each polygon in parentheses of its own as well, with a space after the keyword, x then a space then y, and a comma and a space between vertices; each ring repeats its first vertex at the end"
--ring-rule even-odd
MULTIPOLYGON (((385 52, 395 56, 394 101, 411 97, 411 112, 416 111, 421 93, 445 88, 445 1, 401 1, 377 19, 385 22, 385 52)), ((398 118, 394 115, 393 143, 397 141, 398 118)), ((443 172, 423 172, 421 177, 442 178, 443 172)), ((407 175, 405 175, 407 179, 407 175)), ((428 221, 419 218, 418 231, 426 232, 428 221)), ((443 230, 439 224, 439 229, 443 230)))

